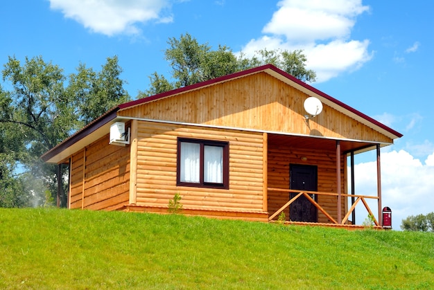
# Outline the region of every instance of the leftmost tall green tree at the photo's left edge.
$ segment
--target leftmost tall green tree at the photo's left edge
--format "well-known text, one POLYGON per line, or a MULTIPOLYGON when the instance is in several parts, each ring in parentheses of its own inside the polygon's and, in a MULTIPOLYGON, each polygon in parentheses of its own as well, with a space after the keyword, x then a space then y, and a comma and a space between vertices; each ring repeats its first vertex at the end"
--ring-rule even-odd
MULTIPOLYGON (((26 57, 22 66, 15 57, 9 57, 3 69, 3 81, 10 82, 11 87, 10 91, 3 91, 1 100, 1 130, 9 141, 2 149, 3 154, 15 152, 12 156, 15 155, 21 171, 31 172, 36 183, 52 186, 53 165, 42 163, 39 156, 73 129, 71 102, 64 94, 63 71, 51 62, 44 62, 42 57, 26 57)), ((14 172, 12 163, 9 164, 9 171, 14 172)), ((28 197, 28 192, 21 192, 20 196, 28 197)))

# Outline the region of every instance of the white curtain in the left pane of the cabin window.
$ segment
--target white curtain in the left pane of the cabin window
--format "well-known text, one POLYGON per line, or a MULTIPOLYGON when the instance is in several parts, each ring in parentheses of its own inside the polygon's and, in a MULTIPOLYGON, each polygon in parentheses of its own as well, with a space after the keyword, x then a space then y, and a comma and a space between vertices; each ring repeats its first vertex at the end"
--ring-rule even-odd
POLYGON ((181 182, 200 182, 200 144, 181 143, 181 182))

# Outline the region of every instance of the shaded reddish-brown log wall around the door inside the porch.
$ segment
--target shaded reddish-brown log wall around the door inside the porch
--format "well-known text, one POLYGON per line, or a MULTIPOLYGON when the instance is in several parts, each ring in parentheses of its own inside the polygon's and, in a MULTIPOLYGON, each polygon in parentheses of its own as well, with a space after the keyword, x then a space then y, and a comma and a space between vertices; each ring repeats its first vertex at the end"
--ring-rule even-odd
MULTIPOLYGON (((344 159, 341 157, 341 188, 345 193, 344 184, 344 159)), ((336 187, 336 152, 319 150, 308 150, 294 147, 269 147, 268 148, 268 187, 269 188, 289 188, 290 184, 290 164, 317 165, 318 166, 318 191, 337 193, 336 187), (307 158, 302 161, 302 156, 307 158)), ((345 212, 345 201, 342 197, 342 212, 345 212)), ((289 201, 289 193, 268 192, 268 212, 272 215, 281 206, 289 201)), ((338 199, 331 196, 318 196, 318 203, 324 210, 337 219, 338 199)), ((289 217, 289 208, 284 210, 286 219, 289 217)), ((343 216, 343 215, 342 215, 343 216)), ((277 219, 277 217, 276 217, 277 219)), ((318 222, 329 223, 329 219, 318 210, 318 222)))

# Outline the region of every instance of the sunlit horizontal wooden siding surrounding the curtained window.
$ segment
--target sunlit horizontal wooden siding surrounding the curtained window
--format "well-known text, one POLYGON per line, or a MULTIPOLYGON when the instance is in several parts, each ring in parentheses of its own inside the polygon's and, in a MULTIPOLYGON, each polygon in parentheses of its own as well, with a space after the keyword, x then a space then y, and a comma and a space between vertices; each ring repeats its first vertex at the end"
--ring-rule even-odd
POLYGON ((137 206, 263 212, 262 134, 139 121, 137 206), (229 141, 229 190, 176 185, 177 137, 229 141))

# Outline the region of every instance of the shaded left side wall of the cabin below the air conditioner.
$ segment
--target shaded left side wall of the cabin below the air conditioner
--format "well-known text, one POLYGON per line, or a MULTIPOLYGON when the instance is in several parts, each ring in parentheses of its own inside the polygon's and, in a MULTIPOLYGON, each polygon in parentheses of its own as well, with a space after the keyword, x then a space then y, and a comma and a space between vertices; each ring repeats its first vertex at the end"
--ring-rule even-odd
POLYGON ((71 156, 69 208, 116 210, 129 202, 130 147, 108 134, 71 156))

